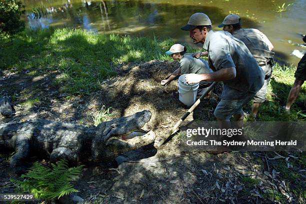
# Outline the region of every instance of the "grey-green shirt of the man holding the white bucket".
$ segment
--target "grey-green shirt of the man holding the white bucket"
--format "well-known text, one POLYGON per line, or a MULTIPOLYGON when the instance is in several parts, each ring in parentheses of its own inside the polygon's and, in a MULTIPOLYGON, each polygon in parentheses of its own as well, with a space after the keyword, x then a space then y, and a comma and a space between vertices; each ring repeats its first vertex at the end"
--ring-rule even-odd
POLYGON ((264 72, 244 43, 229 32, 210 30, 203 48, 208 51, 209 67, 213 70, 229 67, 236 69, 234 79, 223 81, 221 98, 241 100, 262 87, 264 72))

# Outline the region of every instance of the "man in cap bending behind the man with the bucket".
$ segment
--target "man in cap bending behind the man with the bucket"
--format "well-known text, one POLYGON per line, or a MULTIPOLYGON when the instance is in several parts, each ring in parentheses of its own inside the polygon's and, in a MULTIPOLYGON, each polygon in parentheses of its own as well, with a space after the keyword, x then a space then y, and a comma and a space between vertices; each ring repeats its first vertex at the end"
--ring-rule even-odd
POLYGON ((253 98, 252 116, 256 117, 259 107, 265 101, 265 93, 272 75, 274 52, 271 50, 273 45, 259 30, 241 28, 240 17, 236 14, 227 15, 218 27, 223 27, 224 31, 230 32, 234 37, 244 42, 265 73, 264 84, 253 98))

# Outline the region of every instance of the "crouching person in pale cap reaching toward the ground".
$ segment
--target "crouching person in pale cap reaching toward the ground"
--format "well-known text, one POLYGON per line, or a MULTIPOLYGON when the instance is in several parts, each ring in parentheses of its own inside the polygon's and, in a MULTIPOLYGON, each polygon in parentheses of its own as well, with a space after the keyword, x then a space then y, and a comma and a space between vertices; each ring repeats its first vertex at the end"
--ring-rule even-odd
MULTIPOLYGON (((160 82, 161 85, 170 83, 176 76, 180 74, 204 74, 210 73, 212 70, 209 68, 208 63, 203 59, 197 59, 192 57, 192 54, 186 53, 187 49, 181 44, 173 44, 165 53, 171 55, 173 60, 179 60, 180 66, 167 78, 160 82)), ((201 81, 198 87, 198 94, 202 92, 204 88, 207 88, 211 83, 207 81, 201 81)))

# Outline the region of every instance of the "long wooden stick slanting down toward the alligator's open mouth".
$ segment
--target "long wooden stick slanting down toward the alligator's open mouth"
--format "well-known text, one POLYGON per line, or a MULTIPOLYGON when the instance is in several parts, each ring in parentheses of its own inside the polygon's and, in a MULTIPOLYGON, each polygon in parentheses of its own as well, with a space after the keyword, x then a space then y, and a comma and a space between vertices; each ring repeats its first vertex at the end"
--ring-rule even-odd
POLYGON ((182 122, 188 117, 190 113, 194 110, 194 108, 201 102, 201 100, 211 91, 211 89, 216 85, 216 82, 213 82, 208 89, 197 99, 194 104, 189 108, 189 110, 180 118, 180 120, 171 128, 171 130, 168 131, 168 133, 159 141, 159 144, 157 144, 157 147, 160 147, 164 141, 170 137, 173 133, 175 133, 178 129, 178 127, 182 124, 182 122))

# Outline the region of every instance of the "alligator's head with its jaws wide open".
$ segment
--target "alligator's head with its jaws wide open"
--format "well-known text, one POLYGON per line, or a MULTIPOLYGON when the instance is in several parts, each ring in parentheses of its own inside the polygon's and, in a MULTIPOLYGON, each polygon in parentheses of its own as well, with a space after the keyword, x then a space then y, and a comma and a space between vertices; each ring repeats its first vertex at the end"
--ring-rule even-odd
POLYGON ((119 154, 148 145, 155 140, 152 132, 123 140, 135 130, 140 130, 151 118, 151 112, 144 110, 131 116, 115 118, 99 124, 91 146, 92 159, 96 161, 111 161, 119 154))

